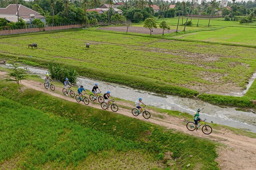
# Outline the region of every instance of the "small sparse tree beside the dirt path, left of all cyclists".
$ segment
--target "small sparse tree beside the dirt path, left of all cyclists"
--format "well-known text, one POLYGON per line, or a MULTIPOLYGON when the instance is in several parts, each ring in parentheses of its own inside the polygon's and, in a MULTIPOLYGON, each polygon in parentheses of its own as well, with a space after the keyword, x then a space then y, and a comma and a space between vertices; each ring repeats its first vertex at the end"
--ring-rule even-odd
POLYGON ((25 69, 21 69, 20 64, 18 63, 18 58, 16 58, 15 62, 11 62, 11 67, 13 67, 12 72, 10 72, 9 74, 7 74, 7 76, 9 77, 9 79, 5 79, 5 81, 13 81, 16 82, 19 86, 20 91, 21 87, 20 87, 20 83, 21 80, 25 80, 27 77, 27 71, 25 69))

